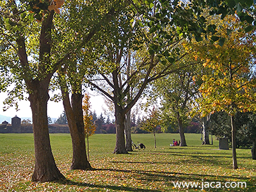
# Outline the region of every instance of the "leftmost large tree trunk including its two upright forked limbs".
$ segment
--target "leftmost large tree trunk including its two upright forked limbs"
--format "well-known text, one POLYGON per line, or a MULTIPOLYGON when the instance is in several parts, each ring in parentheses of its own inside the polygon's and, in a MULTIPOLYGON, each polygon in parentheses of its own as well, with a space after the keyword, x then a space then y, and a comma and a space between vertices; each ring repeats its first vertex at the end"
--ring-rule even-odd
MULTIPOLYGON (((13 6, 15 6, 15 4, 13 4, 13 6)), ((54 157, 52 156, 47 120, 47 101, 49 100, 48 86, 52 74, 54 73, 52 68, 49 67, 51 66, 51 30, 53 15, 54 11, 47 13, 42 22, 38 55, 39 62, 36 72, 37 77, 35 79, 34 75, 30 74, 29 76, 30 69, 24 35, 20 34, 19 38, 17 38, 17 54, 22 68, 27 72, 23 74, 23 79, 28 88, 33 118, 35 170, 32 175, 32 180, 40 182, 65 179, 58 170, 54 157)))

